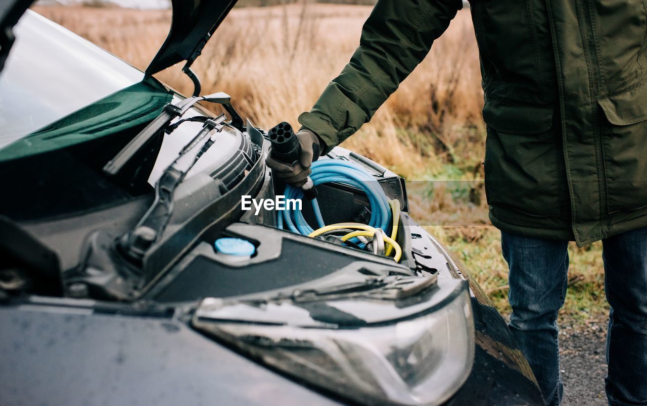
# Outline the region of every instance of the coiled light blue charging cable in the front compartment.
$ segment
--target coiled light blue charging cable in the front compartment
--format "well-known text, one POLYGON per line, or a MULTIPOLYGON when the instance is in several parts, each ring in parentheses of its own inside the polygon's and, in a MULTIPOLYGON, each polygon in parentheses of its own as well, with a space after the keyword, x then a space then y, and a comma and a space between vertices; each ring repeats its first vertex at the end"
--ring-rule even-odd
MULTIPOLYGON (((314 186, 335 182, 354 186, 364 191, 371 205, 371 220, 368 225, 381 228, 384 231, 388 230, 391 224, 389 200, 377 180, 366 170, 352 162, 336 159, 318 160, 313 162, 311 169, 310 176, 314 186)), ((286 186, 285 198, 303 199, 303 191, 298 187, 286 186)), ((325 224, 319 204, 316 199, 312 200, 312 204, 318 228, 322 228, 325 224)), ((302 235, 309 235, 314 231, 303 218, 303 213, 300 210, 292 210, 291 208, 280 211, 278 214, 278 227, 283 229, 284 226, 287 226, 288 230, 302 235)))

